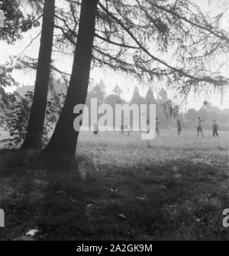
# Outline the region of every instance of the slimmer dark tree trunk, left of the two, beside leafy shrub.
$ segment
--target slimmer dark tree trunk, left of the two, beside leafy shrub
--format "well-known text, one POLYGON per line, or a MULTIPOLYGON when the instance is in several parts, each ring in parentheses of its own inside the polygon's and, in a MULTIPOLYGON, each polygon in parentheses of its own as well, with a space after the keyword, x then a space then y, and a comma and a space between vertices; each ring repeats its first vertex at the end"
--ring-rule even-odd
POLYGON ((27 124, 27 133, 22 145, 23 149, 41 149, 42 147, 44 117, 50 80, 54 15, 55 0, 45 0, 34 99, 31 106, 29 122, 27 124))

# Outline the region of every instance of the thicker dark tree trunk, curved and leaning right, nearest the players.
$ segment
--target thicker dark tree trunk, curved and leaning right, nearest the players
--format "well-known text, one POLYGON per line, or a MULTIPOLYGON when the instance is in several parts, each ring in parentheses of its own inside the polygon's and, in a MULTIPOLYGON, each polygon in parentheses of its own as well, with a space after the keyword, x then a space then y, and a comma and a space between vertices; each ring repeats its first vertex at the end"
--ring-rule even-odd
POLYGON ((76 104, 85 103, 89 87, 97 4, 98 0, 82 0, 73 70, 66 101, 44 153, 60 153, 69 156, 76 153, 79 132, 73 129, 73 121, 76 118, 73 108, 76 104))

